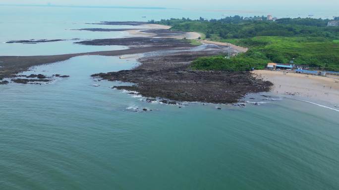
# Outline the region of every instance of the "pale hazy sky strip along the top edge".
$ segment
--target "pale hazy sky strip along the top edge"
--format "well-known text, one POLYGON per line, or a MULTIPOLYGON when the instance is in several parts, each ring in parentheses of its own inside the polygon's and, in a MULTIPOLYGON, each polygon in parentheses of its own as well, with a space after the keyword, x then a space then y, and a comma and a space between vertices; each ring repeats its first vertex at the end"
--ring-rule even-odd
POLYGON ((63 5, 110 5, 110 6, 161 6, 170 8, 206 9, 262 9, 279 7, 302 9, 333 9, 339 0, 0 0, 1 4, 63 4, 63 5))

